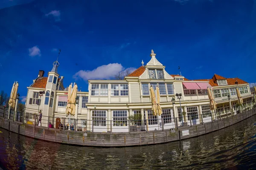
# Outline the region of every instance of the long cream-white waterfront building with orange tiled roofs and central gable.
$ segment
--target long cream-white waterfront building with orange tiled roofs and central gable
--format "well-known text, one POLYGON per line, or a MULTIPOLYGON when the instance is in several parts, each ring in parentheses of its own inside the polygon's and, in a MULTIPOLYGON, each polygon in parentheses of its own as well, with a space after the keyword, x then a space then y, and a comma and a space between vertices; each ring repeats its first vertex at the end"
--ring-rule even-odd
MULTIPOLYGON (((163 125, 165 129, 170 129, 175 128, 174 117, 178 118, 178 125, 181 125, 182 112, 186 112, 184 120, 188 125, 209 122, 211 111, 207 87, 214 89, 217 112, 226 114, 230 113, 228 94, 231 96, 232 107, 236 105, 236 81, 244 101, 251 102, 253 95, 250 93, 249 83, 241 79, 226 79, 215 74, 212 79, 188 80, 181 75, 167 73, 165 66, 156 59, 154 51, 150 56, 151 59, 145 66, 142 65, 124 80, 89 80, 89 92, 77 93, 77 114, 71 117, 79 119, 77 127, 87 127, 87 130, 94 132, 128 132, 128 116, 141 114, 141 121, 137 125, 142 130, 160 130, 163 125), (152 115, 149 96, 151 85, 154 89, 157 85, 160 88, 160 105, 163 109, 161 116, 152 115), (182 95, 180 103, 175 94, 182 95), (172 98, 176 100, 174 105, 172 98)), ((50 119, 51 123, 57 117, 67 118, 67 90, 64 90, 63 77, 59 77, 57 68, 58 62, 54 62, 48 77, 43 77, 44 71, 39 71, 38 78, 28 87, 26 99, 27 113, 37 113, 39 104, 43 116, 54 117, 50 119), (42 102, 39 91, 46 92, 41 97, 42 102)))

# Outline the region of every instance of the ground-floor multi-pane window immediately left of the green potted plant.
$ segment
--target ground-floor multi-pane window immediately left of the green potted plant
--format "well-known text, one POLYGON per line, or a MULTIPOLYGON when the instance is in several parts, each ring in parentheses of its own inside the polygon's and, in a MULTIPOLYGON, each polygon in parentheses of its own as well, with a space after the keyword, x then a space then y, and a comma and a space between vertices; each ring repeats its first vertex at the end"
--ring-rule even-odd
POLYGON ((127 111, 113 111, 113 126, 127 126, 127 111))

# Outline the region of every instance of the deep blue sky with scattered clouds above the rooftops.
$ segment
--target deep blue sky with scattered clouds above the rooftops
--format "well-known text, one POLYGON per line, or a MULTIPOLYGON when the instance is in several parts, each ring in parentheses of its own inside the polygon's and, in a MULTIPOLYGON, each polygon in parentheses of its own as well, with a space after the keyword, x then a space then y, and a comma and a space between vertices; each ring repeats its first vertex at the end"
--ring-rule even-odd
POLYGON ((24 98, 59 48, 64 86, 82 91, 87 79, 147 63, 151 49, 169 74, 253 83, 255 28, 254 0, 1 0, 0 90, 18 81, 24 98))

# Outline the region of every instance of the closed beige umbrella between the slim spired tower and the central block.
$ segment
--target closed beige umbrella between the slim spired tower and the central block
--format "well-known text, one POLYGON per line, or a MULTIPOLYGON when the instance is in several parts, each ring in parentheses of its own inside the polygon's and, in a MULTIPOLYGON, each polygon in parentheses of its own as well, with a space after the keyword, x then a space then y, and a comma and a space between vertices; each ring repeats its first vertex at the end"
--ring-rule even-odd
POLYGON ((74 116, 76 113, 76 92, 77 92, 77 85, 75 84, 73 87, 73 91, 71 93, 72 85, 68 88, 68 96, 67 96, 67 108, 66 114, 74 116))

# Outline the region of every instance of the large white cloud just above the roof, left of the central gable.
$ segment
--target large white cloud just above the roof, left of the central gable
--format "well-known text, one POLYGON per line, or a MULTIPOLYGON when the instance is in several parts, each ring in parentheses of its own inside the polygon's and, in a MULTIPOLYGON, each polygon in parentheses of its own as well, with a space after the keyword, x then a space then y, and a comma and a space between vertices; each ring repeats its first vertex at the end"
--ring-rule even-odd
POLYGON ((124 68, 119 63, 110 63, 108 65, 101 65, 96 69, 90 70, 80 70, 78 71, 73 78, 81 78, 84 81, 88 79, 112 79, 115 74, 119 73, 120 71, 130 71, 133 72, 136 68, 124 68))

